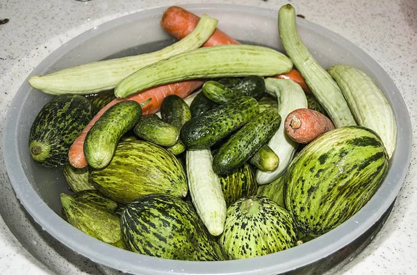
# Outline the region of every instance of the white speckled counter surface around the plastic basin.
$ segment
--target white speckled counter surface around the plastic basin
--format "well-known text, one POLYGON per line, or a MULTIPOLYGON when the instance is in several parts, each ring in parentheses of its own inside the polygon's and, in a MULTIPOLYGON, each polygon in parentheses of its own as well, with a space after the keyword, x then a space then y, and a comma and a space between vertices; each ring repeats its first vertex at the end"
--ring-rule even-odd
MULTIPOLYGON (((0 140, 6 111, 28 74, 83 31, 132 12, 202 1, 16 0, 0 2, 0 140)), ((278 10, 286 1, 204 1, 278 10)), ((337 274, 417 274, 417 2, 290 1, 298 13, 349 39, 391 76, 413 125, 411 166, 393 211, 371 244, 337 274)), ((1 146, 2 143, 0 143, 1 146)), ((101 274, 35 225, 10 186, 0 151, 0 274, 101 274)))

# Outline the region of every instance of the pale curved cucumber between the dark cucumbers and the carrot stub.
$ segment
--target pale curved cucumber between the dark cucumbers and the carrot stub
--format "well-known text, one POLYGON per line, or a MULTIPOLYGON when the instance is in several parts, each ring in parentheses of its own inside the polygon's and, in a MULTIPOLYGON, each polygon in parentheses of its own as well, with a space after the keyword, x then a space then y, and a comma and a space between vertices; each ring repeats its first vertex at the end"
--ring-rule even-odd
MULTIPOLYGON (((307 100, 304 91, 293 80, 266 78, 266 89, 275 92, 279 105, 281 118, 286 118, 290 112, 299 108, 307 107, 307 100)), ((258 184, 268 184, 284 174, 290 164, 298 144, 292 141, 285 133, 283 119, 277 132, 270 139, 268 145, 279 157, 279 166, 272 172, 256 171, 256 181, 258 184)))

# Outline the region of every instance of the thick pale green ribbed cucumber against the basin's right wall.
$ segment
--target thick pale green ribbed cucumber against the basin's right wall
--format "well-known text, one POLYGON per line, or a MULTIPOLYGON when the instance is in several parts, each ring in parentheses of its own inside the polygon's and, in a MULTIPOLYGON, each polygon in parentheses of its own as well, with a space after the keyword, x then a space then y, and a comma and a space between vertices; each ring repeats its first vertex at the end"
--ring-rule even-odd
POLYGON ((338 64, 327 71, 341 87, 358 124, 379 134, 391 158, 397 140, 397 123, 382 91, 366 73, 352 66, 338 64))

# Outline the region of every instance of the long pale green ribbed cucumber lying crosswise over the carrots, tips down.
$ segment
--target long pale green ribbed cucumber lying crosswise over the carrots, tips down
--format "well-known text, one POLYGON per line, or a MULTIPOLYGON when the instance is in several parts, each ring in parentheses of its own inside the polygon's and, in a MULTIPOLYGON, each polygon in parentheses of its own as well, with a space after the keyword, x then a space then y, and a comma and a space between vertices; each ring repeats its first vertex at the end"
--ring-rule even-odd
POLYGON ((115 87, 125 98, 150 87, 195 78, 223 76, 275 76, 293 67, 283 53, 264 46, 219 45, 197 48, 150 64, 132 73, 115 87))

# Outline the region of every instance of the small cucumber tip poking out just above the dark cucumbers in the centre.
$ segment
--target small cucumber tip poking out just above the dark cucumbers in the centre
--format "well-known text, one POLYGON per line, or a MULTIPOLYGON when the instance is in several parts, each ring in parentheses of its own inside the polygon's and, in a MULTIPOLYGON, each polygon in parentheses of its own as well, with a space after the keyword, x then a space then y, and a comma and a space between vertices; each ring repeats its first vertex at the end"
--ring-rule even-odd
POLYGON ((203 85, 203 94, 208 100, 213 101, 219 105, 228 103, 230 100, 234 100, 240 96, 244 96, 240 91, 230 89, 219 82, 209 80, 203 85))

